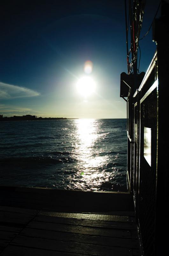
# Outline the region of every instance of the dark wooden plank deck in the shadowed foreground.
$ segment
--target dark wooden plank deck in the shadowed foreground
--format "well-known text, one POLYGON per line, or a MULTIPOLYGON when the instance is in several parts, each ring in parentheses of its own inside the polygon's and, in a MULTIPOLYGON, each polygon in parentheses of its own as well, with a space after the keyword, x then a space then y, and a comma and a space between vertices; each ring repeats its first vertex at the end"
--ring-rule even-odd
POLYGON ((128 193, 12 187, 0 192, 2 256, 142 255, 128 193))

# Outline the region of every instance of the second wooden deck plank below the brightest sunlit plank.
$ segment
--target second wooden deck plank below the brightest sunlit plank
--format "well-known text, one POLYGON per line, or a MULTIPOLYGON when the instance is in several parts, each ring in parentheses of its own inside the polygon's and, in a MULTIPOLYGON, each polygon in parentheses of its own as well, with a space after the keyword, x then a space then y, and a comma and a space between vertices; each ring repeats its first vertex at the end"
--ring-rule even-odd
POLYGON ((116 230, 116 229, 104 229, 104 228, 95 228, 95 227, 84 227, 77 225, 63 225, 59 223, 51 222, 40 222, 40 221, 31 221, 27 228, 36 228, 44 230, 53 230, 58 232, 68 232, 76 234, 86 234, 93 236, 109 236, 109 237, 121 237, 121 238, 131 238, 131 233, 129 230, 116 230))

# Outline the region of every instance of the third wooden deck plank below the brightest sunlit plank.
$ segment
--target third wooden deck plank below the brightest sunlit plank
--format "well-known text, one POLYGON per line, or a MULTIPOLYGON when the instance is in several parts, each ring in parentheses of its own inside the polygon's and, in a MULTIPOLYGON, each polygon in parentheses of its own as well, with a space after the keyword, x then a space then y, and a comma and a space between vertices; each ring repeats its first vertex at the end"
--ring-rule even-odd
POLYGON ((139 248, 139 242, 137 239, 124 239, 124 238, 114 238, 114 237, 105 237, 102 236, 102 230, 99 236, 94 234, 92 235, 81 235, 75 233, 67 232, 57 232, 51 230, 42 230, 34 228, 24 228, 20 233, 21 236, 32 236, 39 238, 47 238, 60 241, 68 242, 77 242, 83 244, 97 244, 97 245, 106 245, 106 246, 117 246, 125 248, 139 248))

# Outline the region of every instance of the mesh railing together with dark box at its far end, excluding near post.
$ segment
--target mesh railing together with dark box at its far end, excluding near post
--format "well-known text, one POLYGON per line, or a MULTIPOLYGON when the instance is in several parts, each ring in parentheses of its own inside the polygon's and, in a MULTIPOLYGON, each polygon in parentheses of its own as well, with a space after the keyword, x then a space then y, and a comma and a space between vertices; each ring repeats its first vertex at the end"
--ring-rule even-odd
POLYGON ((121 97, 127 98, 124 98, 127 102, 127 177, 135 201, 144 253, 147 256, 155 255, 156 251, 157 74, 157 52, 146 74, 137 75, 137 80, 134 75, 121 74, 121 97), (137 89, 134 91, 134 88, 137 89))

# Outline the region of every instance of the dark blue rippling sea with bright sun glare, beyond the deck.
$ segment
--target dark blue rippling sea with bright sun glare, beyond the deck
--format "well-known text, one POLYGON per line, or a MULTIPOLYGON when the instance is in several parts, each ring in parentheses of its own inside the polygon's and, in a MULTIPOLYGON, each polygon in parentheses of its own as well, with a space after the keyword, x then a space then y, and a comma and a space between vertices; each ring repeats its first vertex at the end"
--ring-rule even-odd
POLYGON ((126 119, 0 122, 0 185, 125 191, 126 119))

